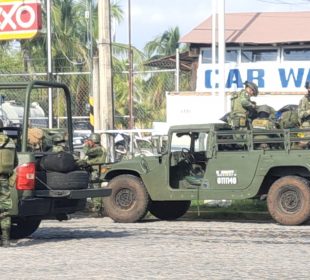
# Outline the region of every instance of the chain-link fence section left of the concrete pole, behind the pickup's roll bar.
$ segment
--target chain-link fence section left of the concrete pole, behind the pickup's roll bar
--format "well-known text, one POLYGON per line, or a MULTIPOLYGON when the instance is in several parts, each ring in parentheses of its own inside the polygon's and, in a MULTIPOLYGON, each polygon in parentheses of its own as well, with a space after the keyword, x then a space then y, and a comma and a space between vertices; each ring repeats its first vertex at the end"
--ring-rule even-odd
MULTIPOLYGON (((0 72, 0 83, 27 83, 32 80, 46 81, 46 73, 34 73, 34 74, 18 74, 18 73, 4 73, 0 72)), ((89 88, 90 88, 90 73, 57 73, 53 76, 53 80, 66 84, 72 93, 72 115, 74 118, 74 129, 81 128, 90 129, 88 126, 89 120, 89 88), (76 127, 75 127, 76 126, 76 127)), ((54 89, 55 90, 55 89, 54 89)), ((59 91, 59 90, 57 90, 59 91)), ((25 89, 6 89, 0 92, 1 94, 1 115, 2 118, 8 118, 14 122, 21 122, 23 115, 22 109, 25 99, 25 89), (14 111, 14 112, 13 112, 14 111), (19 114, 17 114, 17 112, 19 114), (15 114, 14 114, 15 113, 15 114), (17 115, 16 115, 17 114, 17 115), (7 116, 10 115, 10 116, 7 116)), ((53 114, 57 116, 64 110, 64 102, 62 101, 62 95, 53 95, 53 114)), ((31 96, 30 102, 33 107, 37 106, 38 110, 43 110, 42 114, 48 117, 48 94, 46 89, 36 90, 31 96)), ((35 110, 34 114, 35 114, 35 110)), ((42 114, 40 114, 42 116, 42 114)))

